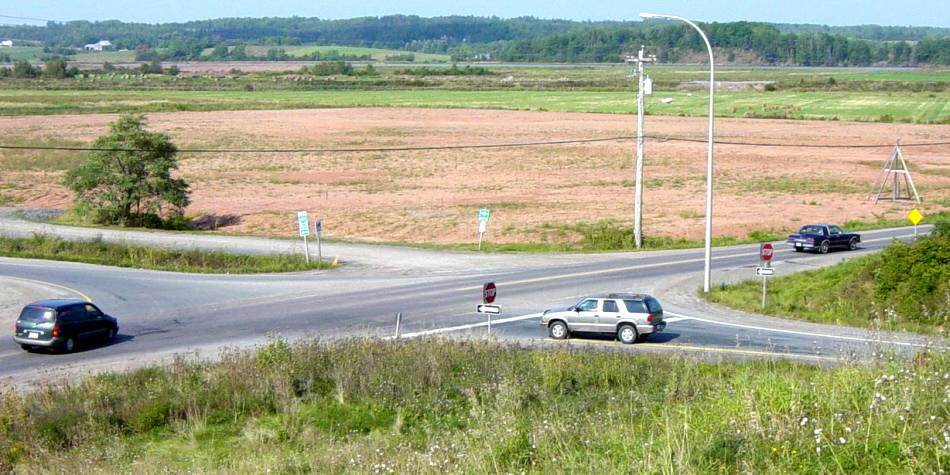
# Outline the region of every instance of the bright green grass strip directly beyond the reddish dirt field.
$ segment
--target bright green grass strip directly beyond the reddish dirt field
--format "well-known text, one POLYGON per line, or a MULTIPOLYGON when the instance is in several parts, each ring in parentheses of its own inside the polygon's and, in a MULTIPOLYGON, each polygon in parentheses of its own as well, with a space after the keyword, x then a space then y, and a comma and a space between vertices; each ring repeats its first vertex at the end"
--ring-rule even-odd
MULTIPOLYGON (((885 92, 723 92, 716 115, 822 120, 950 123, 946 93, 885 92)), ((704 116, 706 97, 664 92, 647 101, 652 115, 704 116), (670 104, 660 99, 673 99, 670 104)), ((85 114, 327 107, 435 107, 542 110, 556 112, 636 112, 630 92, 597 91, 81 91, 0 90, 0 115, 85 114)))

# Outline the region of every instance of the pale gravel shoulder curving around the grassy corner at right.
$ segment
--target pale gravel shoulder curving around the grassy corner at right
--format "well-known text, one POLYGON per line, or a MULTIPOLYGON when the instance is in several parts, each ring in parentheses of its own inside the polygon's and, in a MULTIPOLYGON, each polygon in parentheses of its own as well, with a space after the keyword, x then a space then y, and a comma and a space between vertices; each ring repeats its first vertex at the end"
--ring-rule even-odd
MULTIPOLYGON (((871 251, 861 252, 834 252, 826 255, 800 254, 795 258, 779 261, 775 264, 776 276, 794 274, 807 270, 818 269, 838 264, 842 261, 869 254, 871 251)), ((712 285, 731 284, 755 277, 755 265, 727 267, 715 269, 712 274, 712 285)), ((854 328, 822 323, 813 323, 804 320, 794 320, 782 317, 754 314, 724 307, 706 301, 699 295, 702 287, 701 275, 683 276, 671 279, 658 285, 653 291, 663 302, 664 306, 673 313, 694 320, 710 321, 733 326, 737 329, 806 335, 815 340, 847 340, 866 342, 868 345, 878 345, 881 348, 891 347, 900 350, 921 349, 927 346, 946 348, 947 342, 916 333, 876 331, 864 328, 854 328), (887 343, 884 343, 887 342, 887 343), (900 342, 900 343, 893 343, 900 342)))

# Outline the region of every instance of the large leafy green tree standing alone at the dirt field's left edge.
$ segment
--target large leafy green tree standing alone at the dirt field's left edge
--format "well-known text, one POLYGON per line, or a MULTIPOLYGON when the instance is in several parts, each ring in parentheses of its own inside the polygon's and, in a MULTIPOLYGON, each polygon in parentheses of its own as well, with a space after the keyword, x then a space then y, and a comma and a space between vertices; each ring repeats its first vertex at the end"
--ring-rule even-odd
POLYGON ((128 114, 92 143, 87 159, 64 184, 76 193, 76 210, 101 224, 157 227, 180 219, 190 202, 188 184, 172 177, 178 149, 161 133, 145 130, 144 116, 128 114))

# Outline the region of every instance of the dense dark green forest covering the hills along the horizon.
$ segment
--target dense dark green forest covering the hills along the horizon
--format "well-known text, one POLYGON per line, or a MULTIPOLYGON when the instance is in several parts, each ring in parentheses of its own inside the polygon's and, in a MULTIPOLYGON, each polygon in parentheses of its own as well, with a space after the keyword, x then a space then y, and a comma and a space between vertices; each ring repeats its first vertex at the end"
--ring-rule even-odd
MULTIPOLYGON (((702 26, 717 54, 726 61, 803 66, 950 64, 947 28, 754 22, 702 26)), ((158 25, 73 21, 0 27, 0 38, 40 42, 50 54, 58 55, 69 55, 83 44, 108 39, 118 48, 138 51, 138 59, 144 61, 279 60, 287 57, 276 48, 298 44, 446 53, 458 61, 617 62, 644 44, 653 48, 662 61, 676 62, 689 61, 704 51, 699 36, 679 23, 462 16, 224 18, 158 25), (275 49, 268 56, 251 57, 245 53, 245 45, 251 44, 275 49)))

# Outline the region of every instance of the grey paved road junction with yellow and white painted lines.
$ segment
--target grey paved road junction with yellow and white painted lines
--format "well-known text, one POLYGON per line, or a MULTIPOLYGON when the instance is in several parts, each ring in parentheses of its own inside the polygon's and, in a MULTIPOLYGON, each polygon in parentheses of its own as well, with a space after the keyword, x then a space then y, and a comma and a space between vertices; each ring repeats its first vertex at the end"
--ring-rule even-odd
MULTIPOLYGON (((56 230, 51 230, 56 231, 56 230)), ((152 233, 145 233, 152 234, 152 233)), ((864 233, 863 251, 879 250, 895 237, 909 239, 909 229, 864 233)), ((217 238, 215 238, 217 239, 217 238)), ((241 238, 232 238, 242 241, 241 238)), ((232 240, 232 244, 233 241, 232 240)), ((257 243, 258 240, 251 240, 257 243)), ((255 244, 256 245, 256 244, 255 244)), ((497 338, 545 342, 537 312, 607 291, 640 291, 661 296, 670 322, 667 331, 631 351, 683 351, 738 357, 771 355, 824 361, 867 357, 882 348, 912 353, 925 345, 908 335, 876 335, 855 329, 827 328, 789 321, 757 321, 691 304, 695 284, 683 280, 702 270, 702 250, 561 256, 480 256, 395 249, 413 256, 415 267, 373 270, 367 255, 386 258, 386 248, 351 246, 352 259, 363 263, 338 271, 258 275, 193 275, 119 269, 85 264, 0 258, 0 276, 45 282, 58 291, 88 297, 121 324, 116 343, 69 355, 26 353, 0 338, 0 376, 30 379, 45 373, 66 374, 82 366, 115 368, 154 361, 188 351, 202 354, 227 346, 265 341, 269 335, 380 336, 392 334, 395 312, 405 315, 404 332, 412 335, 483 335, 483 316, 474 313, 481 284, 498 283, 505 314, 493 326, 497 338), (365 249, 364 249, 365 248, 365 249), (381 251, 382 249, 382 251, 381 251), (360 255, 361 251, 367 255, 360 255), (440 260, 451 263, 441 272, 440 260), (423 262, 425 265, 420 265, 423 262), (470 263, 475 270, 463 270, 470 263), (428 270, 420 270, 428 268, 428 270), (680 282, 675 284, 676 282, 680 282), (687 286, 683 290, 683 286, 687 286), (669 294, 667 300, 663 296, 669 294)), ((824 265, 841 256, 804 256, 778 246, 776 267, 793 263, 824 265)), ((717 248, 714 267, 741 269, 757 262, 758 246, 717 248)), ((745 269, 751 273, 751 270, 745 269)), ((15 315, 2 317, 12 325, 15 315)), ((557 344, 561 344, 560 342, 557 344)), ((571 344, 621 345, 610 338, 585 338, 571 344)))

